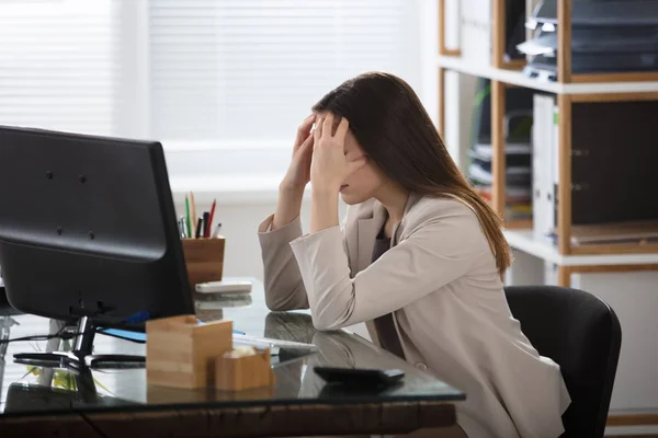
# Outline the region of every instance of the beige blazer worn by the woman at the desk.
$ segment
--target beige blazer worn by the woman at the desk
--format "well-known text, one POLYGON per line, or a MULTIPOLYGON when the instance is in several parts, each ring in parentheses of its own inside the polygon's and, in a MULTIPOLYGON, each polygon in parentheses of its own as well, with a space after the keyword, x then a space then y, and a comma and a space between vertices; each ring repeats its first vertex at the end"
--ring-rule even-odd
POLYGON ((308 309, 320 331, 393 312, 406 359, 463 390, 457 422, 470 438, 551 437, 570 399, 559 367, 521 332, 473 209, 409 196, 392 247, 372 253, 386 218, 376 200, 348 209, 343 227, 304 235, 297 218, 259 228, 266 303, 308 309))

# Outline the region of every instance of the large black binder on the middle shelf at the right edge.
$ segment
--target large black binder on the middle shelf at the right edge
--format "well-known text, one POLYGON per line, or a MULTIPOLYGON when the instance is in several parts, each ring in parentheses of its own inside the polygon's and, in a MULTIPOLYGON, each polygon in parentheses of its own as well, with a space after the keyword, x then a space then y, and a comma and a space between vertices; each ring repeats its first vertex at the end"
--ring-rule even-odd
POLYGON ((658 219, 658 102, 575 103, 572 224, 658 219))

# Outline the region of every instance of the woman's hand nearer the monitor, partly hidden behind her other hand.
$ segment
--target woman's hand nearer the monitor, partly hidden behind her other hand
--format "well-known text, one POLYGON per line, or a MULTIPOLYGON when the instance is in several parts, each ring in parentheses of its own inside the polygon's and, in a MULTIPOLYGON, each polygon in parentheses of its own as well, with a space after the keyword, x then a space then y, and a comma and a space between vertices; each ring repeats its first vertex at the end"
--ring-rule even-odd
POLYGON ((302 122, 297 129, 295 146, 293 147, 293 159, 291 165, 281 182, 281 188, 286 191, 304 192, 306 184, 310 181, 310 161, 313 157, 314 137, 310 132, 316 114, 311 114, 302 122))

